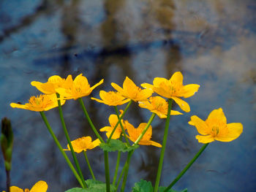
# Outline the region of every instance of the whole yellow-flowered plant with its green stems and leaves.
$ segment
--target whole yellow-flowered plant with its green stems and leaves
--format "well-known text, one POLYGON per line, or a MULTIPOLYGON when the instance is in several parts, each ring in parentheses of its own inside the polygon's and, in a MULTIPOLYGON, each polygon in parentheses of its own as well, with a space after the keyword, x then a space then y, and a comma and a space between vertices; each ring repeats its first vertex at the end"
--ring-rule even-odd
MULTIPOLYGON (((42 83, 33 81, 31 85, 35 86, 39 91, 45 93, 39 96, 32 96, 27 104, 12 103, 10 104, 13 108, 20 108, 23 110, 37 111, 42 116, 42 120, 45 126, 48 128, 54 142, 56 142, 57 147, 64 159, 67 161, 69 168, 75 175, 80 188, 71 188, 66 192, 86 192, 86 191, 121 191, 126 190, 127 177, 129 172, 129 164, 132 161, 132 154, 135 153, 136 149, 142 145, 152 145, 161 150, 159 156, 159 165, 157 169, 157 175, 154 187, 151 182, 146 180, 140 180, 140 182, 135 183, 135 187, 132 191, 154 191, 154 192, 177 192, 173 190, 173 185, 175 185, 178 180, 184 175, 190 166, 196 161, 196 159, 203 153, 210 142, 215 140, 220 142, 230 142, 240 136, 243 131, 243 126, 241 123, 227 123, 225 114, 222 108, 213 110, 206 120, 201 120, 196 115, 192 115, 189 120, 189 125, 195 126, 200 135, 196 136, 198 142, 204 143, 203 147, 195 155, 194 158, 185 166, 180 174, 170 183, 167 187, 159 187, 159 181, 162 174, 162 164, 165 155, 165 148, 167 144, 168 129, 170 124, 170 115, 183 115, 181 112, 171 110, 173 101, 181 107, 184 112, 189 112, 190 107, 186 101, 183 101, 181 97, 188 98, 194 96, 198 91, 200 85, 189 84, 183 85, 183 75, 181 72, 175 72, 169 80, 156 77, 154 78, 153 85, 149 83, 142 83, 140 88, 135 83, 126 77, 123 82, 123 87, 121 88, 116 83, 112 82, 111 85, 116 91, 99 91, 100 99, 91 97, 92 100, 97 101, 101 104, 106 104, 108 106, 114 107, 116 114, 110 114, 108 117, 109 125, 102 128, 96 128, 89 113, 86 110, 86 106, 83 103, 83 97, 89 96, 94 88, 101 85, 103 80, 97 82, 91 87, 86 77, 83 74, 79 74, 72 80, 72 75, 69 74, 67 78, 59 77, 58 75, 53 75, 48 78, 48 82, 42 83), (154 96, 155 94, 156 96, 154 96), (164 98, 166 99, 164 99, 164 98), (61 105, 65 104, 66 100, 75 99, 78 100, 80 106, 88 120, 92 130, 94 131, 94 137, 97 139, 92 139, 91 136, 80 137, 78 139, 72 140, 69 138, 69 133, 67 126, 64 122, 64 115, 62 112, 61 105), (151 117, 148 119, 147 123, 141 122, 138 128, 132 126, 127 119, 124 119, 124 115, 128 111, 132 102, 138 102, 138 106, 151 112, 151 117), (118 107, 127 104, 124 110, 118 111, 118 107), (45 111, 51 110, 55 107, 59 109, 59 115, 61 119, 61 125, 64 130, 64 134, 67 138, 67 148, 63 149, 56 135, 53 133, 50 123, 48 122, 45 111), (152 125, 154 118, 158 116, 161 120, 165 120, 165 131, 162 137, 162 141, 155 142, 152 140, 154 137, 154 132, 157 131, 152 125), (100 132, 106 132, 106 135, 101 136, 100 132), (105 164, 105 181, 97 180, 94 176, 93 167, 89 163, 89 158, 86 154, 88 150, 94 150, 95 147, 99 147, 104 153, 104 164, 105 164), (66 153, 71 151, 72 158, 74 160, 75 166, 69 160, 66 153), (113 174, 113 181, 110 183, 110 169, 109 167, 109 153, 117 151, 116 167, 113 174), (84 180, 83 170, 80 169, 80 164, 76 155, 82 153, 86 158, 86 164, 89 166, 89 171, 91 173, 91 178, 89 180, 84 180), (76 153, 76 154, 75 154, 76 153), (121 161, 121 153, 127 153, 127 160, 124 166, 118 174, 119 164, 121 161), (120 185, 119 185, 120 184, 120 185)), ((89 152, 93 153, 93 152, 89 152)), ((112 155, 111 155, 112 156, 112 155)), ((38 186, 43 186, 42 191, 47 190, 47 184, 42 181, 39 184, 35 184, 31 188, 31 192, 39 192, 38 186), (46 186, 46 187, 45 187, 46 186)), ((12 192, 23 191, 18 187, 11 187, 12 192)), ((41 189, 40 189, 41 190, 41 189)), ((187 191, 184 190, 183 192, 187 191)), ((25 192, 29 192, 26 189, 25 192)))

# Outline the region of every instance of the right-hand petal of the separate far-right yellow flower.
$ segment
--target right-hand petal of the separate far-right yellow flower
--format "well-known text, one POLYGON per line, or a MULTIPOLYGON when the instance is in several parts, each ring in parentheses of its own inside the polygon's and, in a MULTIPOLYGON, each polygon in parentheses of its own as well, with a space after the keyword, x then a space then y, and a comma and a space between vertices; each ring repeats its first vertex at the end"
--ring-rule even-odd
POLYGON ((227 124, 228 132, 225 135, 219 134, 215 137, 215 140, 220 142, 231 142, 234 139, 238 138, 243 132, 243 125, 241 123, 228 123, 227 124))

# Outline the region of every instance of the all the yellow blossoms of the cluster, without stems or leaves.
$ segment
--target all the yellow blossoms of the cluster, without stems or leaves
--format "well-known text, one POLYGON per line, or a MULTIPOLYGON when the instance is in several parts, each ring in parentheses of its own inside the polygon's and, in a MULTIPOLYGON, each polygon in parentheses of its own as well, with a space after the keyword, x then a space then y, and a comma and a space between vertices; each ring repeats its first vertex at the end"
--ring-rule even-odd
MULTIPOLYGON (((91 91, 97 86, 101 85, 103 80, 100 80, 96 85, 90 86, 86 77, 79 74, 72 80, 72 76, 68 75, 67 79, 61 78, 54 75, 48 79, 48 82, 31 82, 31 85, 35 86, 39 91, 45 93, 40 96, 31 96, 29 103, 18 104, 12 103, 11 107, 18 107, 24 110, 32 110, 37 112, 47 111, 54 107, 58 107, 58 99, 61 101, 61 105, 65 103, 67 99, 80 99, 83 96, 89 96, 91 91), (59 97, 56 96, 59 94, 59 97)), ((170 80, 165 78, 156 77, 154 78, 153 85, 143 83, 140 88, 135 83, 126 77, 121 88, 116 83, 111 83, 116 91, 99 91, 100 99, 91 98, 109 106, 118 106, 125 104, 129 101, 138 102, 139 107, 146 108, 151 112, 159 116, 159 118, 167 118, 168 103, 163 98, 173 99, 178 106, 184 112, 189 112, 190 107, 186 101, 182 100, 181 97, 188 98, 193 96, 198 91, 200 85, 189 84, 183 85, 183 75, 181 72, 176 72, 170 77, 170 80), (153 93, 157 93, 159 96, 152 96, 153 93), (161 97, 162 96, 162 97, 161 97)), ((182 115, 181 112, 171 110, 170 115, 182 115)), ((106 131, 106 136, 110 137, 110 133, 118 123, 117 115, 110 115, 108 118, 110 126, 105 126, 99 131, 106 131)), ((214 140, 222 142, 230 142, 233 139, 239 137, 243 131, 241 123, 228 123, 225 118, 222 108, 213 110, 206 121, 201 120, 196 115, 191 117, 189 124, 195 126, 197 131, 201 135, 197 135, 196 139, 198 142, 208 143, 214 140)), ((146 127, 146 123, 140 123, 138 128, 135 128, 127 120, 121 120, 121 125, 124 130, 127 130, 127 137, 135 142, 143 129, 146 127)), ((123 134, 120 124, 118 124, 116 131, 112 135, 112 139, 118 139, 123 134)), ((152 127, 149 126, 146 134, 138 142, 139 145, 154 145, 156 147, 162 147, 157 142, 151 141, 152 127)), ((100 144, 99 139, 92 142, 91 137, 81 137, 72 141, 72 146, 76 153, 80 153, 83 150, 89 150, 97 147, 100 144)), ((69 149, 69 146, 67 148, 69 149)), ((32 191, 32 189, 31 189, 32 191)), ((36 191, 36 190, 34 190, 36 191)), ((13 191, 12 191, 13 192, 13 191)))

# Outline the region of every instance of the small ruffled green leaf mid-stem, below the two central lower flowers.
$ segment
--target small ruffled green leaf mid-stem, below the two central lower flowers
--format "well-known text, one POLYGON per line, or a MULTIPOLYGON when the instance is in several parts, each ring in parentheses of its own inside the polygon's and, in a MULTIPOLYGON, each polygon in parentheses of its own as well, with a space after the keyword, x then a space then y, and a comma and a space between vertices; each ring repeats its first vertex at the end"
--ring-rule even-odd
POLYGON ((110 139, 109 143, 101 143, 99 147, 102 148, 102 150, 112 152, 112 151, 121 151, 121 152, 129 152, 131 150, 135 150, 139 147, 139 145, 134 146, 128 146, 127 143, 121 142, 118 139, 110 139))

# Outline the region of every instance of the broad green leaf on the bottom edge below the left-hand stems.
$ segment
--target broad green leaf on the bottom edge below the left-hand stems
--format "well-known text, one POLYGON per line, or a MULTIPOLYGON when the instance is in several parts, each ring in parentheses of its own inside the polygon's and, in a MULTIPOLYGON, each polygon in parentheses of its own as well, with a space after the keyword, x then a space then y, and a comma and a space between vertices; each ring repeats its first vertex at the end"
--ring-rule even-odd
MULTIPOLYGON (((99 180, 86 180, 86 185, 88 188, 71 188, 65 192, 105 192, 106 191, 106 183, 102 183, 99 180)), ((115 192, 116 187, 114 185, 110 185, 110 192, 115 192)))

